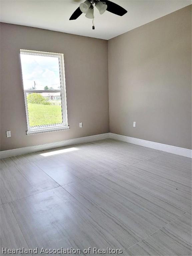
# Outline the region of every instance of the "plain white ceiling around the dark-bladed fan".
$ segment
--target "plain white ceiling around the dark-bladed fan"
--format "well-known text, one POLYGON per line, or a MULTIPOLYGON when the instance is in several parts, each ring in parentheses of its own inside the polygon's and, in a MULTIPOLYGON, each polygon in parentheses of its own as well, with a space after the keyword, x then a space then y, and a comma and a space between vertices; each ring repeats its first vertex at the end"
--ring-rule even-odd
POLYGON ((127 10, 124 16, 94 8, 92 20, 82 14, 69 20, 85 0, 0 0, 0 21, 61 31, 70 34, 110 39, 191 4, 191 0, 112 0, 127 10))

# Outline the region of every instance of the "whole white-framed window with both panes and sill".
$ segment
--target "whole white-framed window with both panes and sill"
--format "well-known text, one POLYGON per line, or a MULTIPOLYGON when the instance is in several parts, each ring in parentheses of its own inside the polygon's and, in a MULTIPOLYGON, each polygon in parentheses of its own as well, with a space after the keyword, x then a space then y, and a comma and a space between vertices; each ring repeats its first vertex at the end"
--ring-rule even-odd
POLYGON ((69 129, 63 54, 20 50, 27 134, 69 129))

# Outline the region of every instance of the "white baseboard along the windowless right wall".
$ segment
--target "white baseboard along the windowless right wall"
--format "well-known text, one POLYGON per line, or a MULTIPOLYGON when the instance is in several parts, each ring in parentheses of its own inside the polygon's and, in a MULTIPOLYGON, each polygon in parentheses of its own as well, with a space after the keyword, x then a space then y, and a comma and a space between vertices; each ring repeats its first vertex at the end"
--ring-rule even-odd
POLYGON ((192 150, 187 148, 180 148, 180 147, 166 145, 158 142, 123 136, 115 133, 109 133, 109 138, 192 158, 192 150))

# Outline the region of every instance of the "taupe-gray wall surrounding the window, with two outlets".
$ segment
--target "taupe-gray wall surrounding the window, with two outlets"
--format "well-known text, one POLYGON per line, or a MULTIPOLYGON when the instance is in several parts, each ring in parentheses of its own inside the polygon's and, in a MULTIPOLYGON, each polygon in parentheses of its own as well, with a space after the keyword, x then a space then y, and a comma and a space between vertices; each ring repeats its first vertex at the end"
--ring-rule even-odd
POLYGON ((106 40, 6 23, 0 33, 1 150, 109 132, 106 40), (20 49, 64 54, 69 130, 26 135, 20 49))

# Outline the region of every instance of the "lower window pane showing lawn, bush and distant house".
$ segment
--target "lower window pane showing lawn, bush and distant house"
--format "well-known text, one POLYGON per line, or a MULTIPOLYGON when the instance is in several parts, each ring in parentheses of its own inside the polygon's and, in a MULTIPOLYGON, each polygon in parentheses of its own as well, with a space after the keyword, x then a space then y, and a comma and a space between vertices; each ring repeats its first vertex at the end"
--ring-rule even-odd
POLYGON ((61 93, 27 93, 29 125, 61 124, 61 93))

